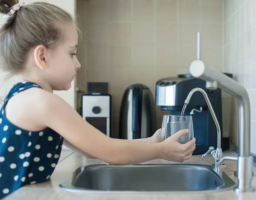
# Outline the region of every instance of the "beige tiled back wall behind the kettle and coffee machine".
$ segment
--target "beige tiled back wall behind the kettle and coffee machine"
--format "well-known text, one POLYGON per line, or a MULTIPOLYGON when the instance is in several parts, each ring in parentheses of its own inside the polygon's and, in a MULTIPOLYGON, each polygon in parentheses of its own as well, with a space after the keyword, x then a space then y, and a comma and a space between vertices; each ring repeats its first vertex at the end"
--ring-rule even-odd
MULTIPOLYGON (((108 82, 113 128, 125 88, 142 83, 155 94, 158 79, 189 73, 196 59, 222 69, 221 0, 87 0, 87 80, 108 82)), ((157 107, 157 128, 163 112, 157 107)))

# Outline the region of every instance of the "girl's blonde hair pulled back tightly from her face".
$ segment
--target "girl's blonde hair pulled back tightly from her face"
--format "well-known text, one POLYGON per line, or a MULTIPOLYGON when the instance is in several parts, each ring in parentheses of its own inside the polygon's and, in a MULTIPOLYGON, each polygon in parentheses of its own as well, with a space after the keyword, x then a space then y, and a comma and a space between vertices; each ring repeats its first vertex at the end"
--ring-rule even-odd
MULTIPOLYGON (((0 0, 0 12, 8 13, 18 0, 0 0)), ((0 29, 1 68, 20 73, 28 52, 37 45, 54 49, 63 37, 60 22, 76 23, 71 14, 50 3, 35 2, 22 6, 0 29)), ((77 27, 77 26, 76 26, 77 27)))

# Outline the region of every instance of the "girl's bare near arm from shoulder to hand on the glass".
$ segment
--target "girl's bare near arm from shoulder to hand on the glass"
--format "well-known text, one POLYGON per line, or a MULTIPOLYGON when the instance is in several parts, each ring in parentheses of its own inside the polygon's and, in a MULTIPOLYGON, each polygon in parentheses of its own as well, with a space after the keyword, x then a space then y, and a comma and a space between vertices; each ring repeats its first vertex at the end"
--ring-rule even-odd
POLYGON ((110 138, 85 121, 59 96, 39 88, 29 88, 12 97, 5 111, 9 121, 18 127, 31 131, 49 127, 80 154, 110 164, 142 163, 156 158, 181 162, 189 159, 195 149, 195 138, 186 144, 178 141, 189 130, 180 130, 162 141, 159 129, 150 137, 151 143, 140 142, 146 139, 134 142, 110 138))

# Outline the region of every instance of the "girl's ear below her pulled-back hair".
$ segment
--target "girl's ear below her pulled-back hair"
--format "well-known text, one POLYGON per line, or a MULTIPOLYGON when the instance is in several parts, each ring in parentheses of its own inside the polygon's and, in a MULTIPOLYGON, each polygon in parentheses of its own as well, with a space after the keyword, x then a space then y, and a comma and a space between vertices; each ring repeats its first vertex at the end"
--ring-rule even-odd
POLYGON ((48 68, 46 54, 47 48, 45 48, 44 45, 38 45, 34 50, 35 63, 41 70, 46 70, 48 68))

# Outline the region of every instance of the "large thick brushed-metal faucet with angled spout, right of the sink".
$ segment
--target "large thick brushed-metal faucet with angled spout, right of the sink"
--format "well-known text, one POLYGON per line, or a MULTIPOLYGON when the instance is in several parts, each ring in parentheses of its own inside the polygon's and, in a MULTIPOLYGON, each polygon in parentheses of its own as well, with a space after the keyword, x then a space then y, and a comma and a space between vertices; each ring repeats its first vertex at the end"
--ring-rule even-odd
POLYGON ((237 160, 238 185, 236 192, 254 191, 251 186, 253 157, 250 155, 250 100, 246 89, 235 80, 205 65, 200 59, 194 60, 190 64, 189 70, 192 76, 206 81, 207 89, 215 90, 219 87, 236 96, 239 105, 238 158, 223 157, 218 160, 218 164, 224 160, 237 160))

